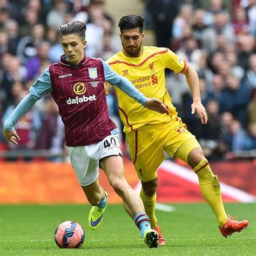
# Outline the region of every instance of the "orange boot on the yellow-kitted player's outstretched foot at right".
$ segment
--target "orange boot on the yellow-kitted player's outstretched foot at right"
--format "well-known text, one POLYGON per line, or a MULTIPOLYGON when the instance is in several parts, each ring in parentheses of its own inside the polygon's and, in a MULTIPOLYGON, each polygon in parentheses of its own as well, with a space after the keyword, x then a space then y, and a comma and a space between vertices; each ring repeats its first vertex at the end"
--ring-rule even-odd
POLYGON ((248 227, 249 221, 248 220, 235 220, 237 216, 231 217, 228 215, 227 222, 223 225, 223 227, 219 227, 220 233, 227 238, 227 236, 231 236, 234 232, 241 232, 245 228, 248 227))

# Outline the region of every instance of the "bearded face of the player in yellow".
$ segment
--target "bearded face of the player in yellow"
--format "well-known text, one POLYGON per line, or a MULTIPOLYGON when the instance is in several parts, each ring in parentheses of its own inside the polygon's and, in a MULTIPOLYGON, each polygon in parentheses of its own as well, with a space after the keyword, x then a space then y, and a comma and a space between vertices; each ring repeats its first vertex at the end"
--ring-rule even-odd
POLYGON ((139 57, 142 55, 142 40, 144 38, 144 33, 141 34, 139 28, 123 29, 120 38, 127 56, 139 57))

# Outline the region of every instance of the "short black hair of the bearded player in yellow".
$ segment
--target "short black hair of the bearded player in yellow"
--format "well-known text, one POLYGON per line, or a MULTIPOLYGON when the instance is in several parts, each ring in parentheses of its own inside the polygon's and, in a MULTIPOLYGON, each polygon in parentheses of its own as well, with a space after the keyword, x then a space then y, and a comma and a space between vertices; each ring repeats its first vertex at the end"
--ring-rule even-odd
POLYGON ((139 32, 143 32, 144 27, 144 17, 139 15, 126 15, 120 18, 118 26, 120 28, 121 33, 123 33, 123 29, 137 29, 139 28, 139 32))

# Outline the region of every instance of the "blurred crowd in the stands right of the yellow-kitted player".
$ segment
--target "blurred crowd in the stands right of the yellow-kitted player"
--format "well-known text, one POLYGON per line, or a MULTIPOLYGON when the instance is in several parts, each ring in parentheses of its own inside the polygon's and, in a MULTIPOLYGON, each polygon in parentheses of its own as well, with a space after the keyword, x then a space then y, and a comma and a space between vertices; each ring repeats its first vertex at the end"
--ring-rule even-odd
POLYGON ((166 82, 179 116, 207 158, 255 157, 256 1, 144 3, 146 26, 154 30, 157 46, 170 48, 198 72, 207 125, 191 114, 192 97, 185 76, 167 73, 166 82))

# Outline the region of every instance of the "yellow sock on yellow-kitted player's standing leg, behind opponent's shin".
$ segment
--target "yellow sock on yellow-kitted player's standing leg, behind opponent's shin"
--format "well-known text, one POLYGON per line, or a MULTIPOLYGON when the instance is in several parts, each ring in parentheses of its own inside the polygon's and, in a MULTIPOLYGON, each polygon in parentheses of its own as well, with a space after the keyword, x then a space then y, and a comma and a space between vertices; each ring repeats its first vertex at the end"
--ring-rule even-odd
POLYGON ((145 212, 147 216, 149 216, 150 218, 151 226, 157 227, 157 217, 156 214, 154 213, 157 202, 157 193, 154 193, 153 196, 149 197, 142 188, 142 190, 140 190, 140 198, 142 198, 145 207, 145 212))

